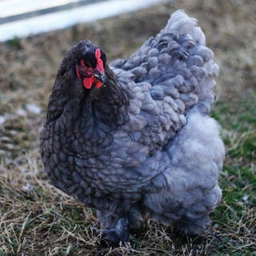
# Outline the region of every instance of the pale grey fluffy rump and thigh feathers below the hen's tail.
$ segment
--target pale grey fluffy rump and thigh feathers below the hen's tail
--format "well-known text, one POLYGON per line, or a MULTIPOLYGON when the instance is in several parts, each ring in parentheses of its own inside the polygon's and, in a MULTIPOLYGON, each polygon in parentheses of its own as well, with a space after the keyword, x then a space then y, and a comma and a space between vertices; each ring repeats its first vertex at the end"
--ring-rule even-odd
POLYGON ((158 193, 146 194, 148 212, 164 224, 177 222, 179 230, 199 234, 222 198, 218 176, 225 150, 218 123, 195 107, 167 154, 170 166, 162 173, 165 186, 158 193))

